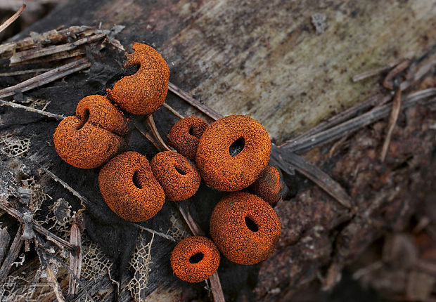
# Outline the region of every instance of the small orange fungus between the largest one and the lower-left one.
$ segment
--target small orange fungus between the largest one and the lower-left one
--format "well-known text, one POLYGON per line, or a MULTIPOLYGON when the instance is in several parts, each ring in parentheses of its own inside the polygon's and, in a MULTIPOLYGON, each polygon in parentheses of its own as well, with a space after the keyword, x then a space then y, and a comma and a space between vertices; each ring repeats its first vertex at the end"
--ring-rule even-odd
POLYGON ((177 152, 159 152, 150 164, 168 200, 188 199, 200 187, 201 178, 197 168, 177 152))

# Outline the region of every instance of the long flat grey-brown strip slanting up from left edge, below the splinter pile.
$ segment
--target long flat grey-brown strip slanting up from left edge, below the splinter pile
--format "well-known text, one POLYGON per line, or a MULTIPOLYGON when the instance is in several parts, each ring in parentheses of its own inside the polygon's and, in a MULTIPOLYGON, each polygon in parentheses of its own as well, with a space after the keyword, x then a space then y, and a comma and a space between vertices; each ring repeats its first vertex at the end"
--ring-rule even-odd
POLYGON ((39 74, 36 77, 32 77, 31 79, 22 81, 20 84, 1 89, 0 98, 13 96, 19 92, 23 93, 25 91, 29 91, 30 89, 37 88, 52 81, 56 81, 57 79, 67 76, 68 74, 72 74, 79 70, 84 70, 85 68, 88 68, 90 66, 91 63, 89 63, 88 60, 86 60, 85 58, 75 60, 74 62, 53 68, 48 72, 44 72, 43 74, 39 74))

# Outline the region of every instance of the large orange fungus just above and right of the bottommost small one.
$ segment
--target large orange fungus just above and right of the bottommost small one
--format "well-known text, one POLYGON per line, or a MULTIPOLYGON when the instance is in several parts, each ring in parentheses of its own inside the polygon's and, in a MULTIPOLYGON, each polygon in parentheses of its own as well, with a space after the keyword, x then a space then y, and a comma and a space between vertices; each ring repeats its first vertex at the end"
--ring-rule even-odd
POLYGON ((281 223, 260 197, 234 192, 224 197, 210 218, 210 235, 222 254, 239 264, 264 261, 274 251, 281 223))

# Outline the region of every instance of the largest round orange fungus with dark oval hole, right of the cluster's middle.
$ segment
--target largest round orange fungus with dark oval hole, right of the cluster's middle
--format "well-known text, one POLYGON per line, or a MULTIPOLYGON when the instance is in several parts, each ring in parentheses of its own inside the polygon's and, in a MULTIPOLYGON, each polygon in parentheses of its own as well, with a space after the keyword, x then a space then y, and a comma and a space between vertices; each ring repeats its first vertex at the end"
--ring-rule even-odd
POLYGON ((232 192, 255 182, 270 153, 268 132, 259 122, 245 115, 229 115, 207 127, 195 159, 207 185, 232 192))

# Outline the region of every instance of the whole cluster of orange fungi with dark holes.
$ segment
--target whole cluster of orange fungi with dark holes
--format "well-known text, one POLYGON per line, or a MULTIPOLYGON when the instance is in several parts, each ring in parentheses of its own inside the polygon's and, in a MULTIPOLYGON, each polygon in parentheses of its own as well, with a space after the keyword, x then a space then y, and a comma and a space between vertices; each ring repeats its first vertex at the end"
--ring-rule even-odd
POLYGON ((186 117, 169 131, 169 145, 177 152, 159 152, 150 162, 138 152, 123 152, 128 148, 124 136, 129 127, 120 110, 152 114, 164 103, 169 80, 168 65, 155 49, 140 43, 133 48, 125 67, 140 65, 139 70, 107 89, 107 96, 80 100, 75 116, 56 128, 56 152, 77 168, 105 164, 98 176, 101 195, 127 221, 152 218, 165 199, 192 197, 202 179, 211 188, 231 192, 212 212, 213 241, 193 236, 174 247, 171 266, 181 280, 200 282, 210 277, 219 266, 219 251, 240 264, 263 261, 274 251, 281 227, 271 207, 281 198, 281 178, 276 168, 268 166, 267 131, 243 115, 223 117, 210 125, 186 117))

